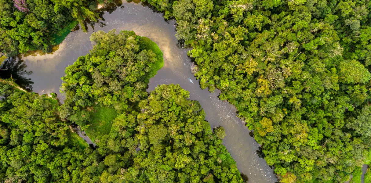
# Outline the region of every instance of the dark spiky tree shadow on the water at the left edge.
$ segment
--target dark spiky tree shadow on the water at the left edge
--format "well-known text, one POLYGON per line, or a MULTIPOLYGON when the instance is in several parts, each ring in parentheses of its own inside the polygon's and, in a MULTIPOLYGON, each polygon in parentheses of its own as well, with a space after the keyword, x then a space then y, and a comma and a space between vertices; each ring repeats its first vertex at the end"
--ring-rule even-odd
POLYGON ((27 71, 26 67, 24 61, 17 57, 7 58, 0 66, 0 77, 3 79, 13 78, 14 83, 27 91, 32 91, 33 81, 26 77, 26 75, 32 74, 32 71, 27 71))

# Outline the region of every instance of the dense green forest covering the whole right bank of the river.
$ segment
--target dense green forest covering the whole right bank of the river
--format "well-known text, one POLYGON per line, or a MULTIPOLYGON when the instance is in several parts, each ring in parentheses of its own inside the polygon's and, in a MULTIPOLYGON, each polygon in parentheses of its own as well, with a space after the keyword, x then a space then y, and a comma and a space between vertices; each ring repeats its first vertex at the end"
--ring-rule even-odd
POLYGON ((368 0, 147 0, 282 182, 342 182, 371 146, 368 0))

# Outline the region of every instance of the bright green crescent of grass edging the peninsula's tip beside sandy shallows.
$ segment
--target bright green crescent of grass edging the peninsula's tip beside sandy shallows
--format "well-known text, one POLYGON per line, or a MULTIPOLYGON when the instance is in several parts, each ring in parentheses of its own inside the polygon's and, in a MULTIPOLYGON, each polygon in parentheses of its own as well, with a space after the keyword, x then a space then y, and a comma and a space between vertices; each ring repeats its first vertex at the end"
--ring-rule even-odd
POLYGON ((157 44, 148 37, 138 36, 138 39, 140 50, 152 50, 157 55, 157 61, 154 63, 154 67, 152 67, 152 70, 150 71, 148 76, 145 77, 145 81, 148 83, 151 77, 155 76, 157 74, 157 71, 164 66, 164 54, 157 46, 157 44))

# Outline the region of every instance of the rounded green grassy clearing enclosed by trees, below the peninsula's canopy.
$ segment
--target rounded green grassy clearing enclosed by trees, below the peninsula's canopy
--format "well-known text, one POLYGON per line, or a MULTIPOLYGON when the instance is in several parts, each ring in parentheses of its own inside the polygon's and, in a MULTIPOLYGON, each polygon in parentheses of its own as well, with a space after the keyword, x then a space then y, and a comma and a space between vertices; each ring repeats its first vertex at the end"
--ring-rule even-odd
POLYGON ((94 142, 97 137, 111 132, 112 121, 116 118, 117 112, 113 107, 94 106, 90 112, 90 124, 85 133, 94 142))

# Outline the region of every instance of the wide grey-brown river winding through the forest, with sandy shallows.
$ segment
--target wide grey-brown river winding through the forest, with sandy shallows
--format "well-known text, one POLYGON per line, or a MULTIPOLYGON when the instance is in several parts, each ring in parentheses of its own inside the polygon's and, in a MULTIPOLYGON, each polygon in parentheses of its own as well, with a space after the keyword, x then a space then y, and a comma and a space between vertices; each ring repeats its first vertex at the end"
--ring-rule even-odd
MULTIPOLYGON (((227 102, 218 99, 218 92, 209 93, 201 90, 198 81, 190 71, 191 60, 187 57, 187 49, 178 47, 174 37, 175 20, 165 21, 161 13, 156 13, 148 7, 135 3, 123 3, 111 14, 103 15, 106 26, 95 26, 95 31, 111 29, 134 30, 139 36, 145 36, 158 44, 164 53, 164 67, 150 80, 147 91, 153 90, 158 84, 180 84, 190 91, 190 99, 198 100, 206 112, 206 120, 211 128, 223 126, 226 137, 223 144, 227 147, 237 163, 241 173, 249 178, 249 183, 274 183, 277 181, 273 170, 267 165, 257 152, 259 144, 249 136, 249 130, 236 117, 236 108, 227 102), (193 80, 191 83, 188 78, 193 80)), ((44 56, 27 56, 24 61, 27 70, 32 70, 30 78, 33 82, 33 91, 39 94, 59 93, 64 70, 79 57, 89 53, 92 44, 89 40, 93 30, 89 27, 88 33, 82 30, 70 33, 60 48, 53 54, 44 56), (43 91, 43 92, 42 92, 43 91)))

